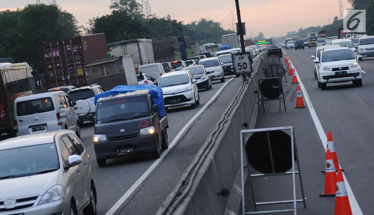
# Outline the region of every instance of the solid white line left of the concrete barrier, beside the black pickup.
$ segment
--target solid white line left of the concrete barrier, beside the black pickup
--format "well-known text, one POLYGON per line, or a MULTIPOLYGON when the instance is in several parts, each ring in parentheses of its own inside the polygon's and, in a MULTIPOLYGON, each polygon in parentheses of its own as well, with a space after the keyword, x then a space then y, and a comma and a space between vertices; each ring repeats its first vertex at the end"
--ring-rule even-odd
POLYGON ((113 207, 111 207, 111 209, 105 214, 105 215, 113 215, 114 212, 117 211, 117 209, 123 204, 123 202, 126 201, 126 199, 128 199, 128 197, 135 191, 135 189, 138 188, 138 186, 144 181, 144 179, 151 173, 152 170, 154 170, 154 168, 157 167, 157 165, 162 161, 162 159, 166 156, 166 154, 168 154, 168 152, 170 151, 170 149, 173 148, 173 146, 175 145, 175 143, 177 143, 177 141, 179 140, 179 138, 183 135, 183 133, 188 129, 188 127, 193 123, 193 121, 200 116, 201 113, 203 113, 203 111, 208 108, 208 106, 215 100, 216 97, 218 97, 218 95, 220 95, 221 91, 223 91, 223 89, 225 88, 226 85, 228 85, 232 80, 234 80, 234 78, 231 78, 230 80, 228 80, 223 86, 221 86, 221 88, 217 91, 217 93, 208 101, 208 103, 206 103, 204 105, 203 108, 201 108, 201 110, 199 112, 197 112, 197 114, 195 114, 195 116, 193 116, 191 118, 190 121, 188 121, 188 123, 183 127, 183 129, 181 129, 181 131, 178 133, 178 135, 174 138, 174 140, 170 143, 169 145, 169 148, 166 149, 161 157, 159 159, 157 159, 156 161, 153 162, 153 164, 148 168, 147 171, 145 171, 145 173, 142 174, 142 176, 130 187, 130 189, 128 189, 126 191, 126 193, 113 205, 113 207))

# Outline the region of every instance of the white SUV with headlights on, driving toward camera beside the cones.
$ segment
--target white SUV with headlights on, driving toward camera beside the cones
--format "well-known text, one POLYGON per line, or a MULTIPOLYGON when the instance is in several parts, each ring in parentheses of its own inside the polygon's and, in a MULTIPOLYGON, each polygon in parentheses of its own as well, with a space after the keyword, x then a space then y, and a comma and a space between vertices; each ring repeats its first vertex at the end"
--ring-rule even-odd
POLYGON ((355 54, 350 48, 327 48, 323 49, 319 59, 314 63, 317 67, 318 87, 325 90, 327 83, 350 82, 356 86, 362 86, 361 66, 355 54))

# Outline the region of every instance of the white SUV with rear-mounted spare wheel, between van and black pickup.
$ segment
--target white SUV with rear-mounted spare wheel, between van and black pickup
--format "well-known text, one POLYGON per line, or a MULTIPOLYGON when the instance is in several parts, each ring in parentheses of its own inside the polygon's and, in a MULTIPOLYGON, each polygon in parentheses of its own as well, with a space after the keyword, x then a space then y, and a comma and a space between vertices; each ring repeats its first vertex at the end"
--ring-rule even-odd
POLYGON ((94 103, 95 95, 105 92, 97 83, 90 86, 82 86, 68 92, 71 101, 76 101, 74 110, 79 117, 79 123, 82 125, 85 121, 93 121, 95 117, 96 106, 94 103), (91 117, 92 115, 93 117, 91 117))

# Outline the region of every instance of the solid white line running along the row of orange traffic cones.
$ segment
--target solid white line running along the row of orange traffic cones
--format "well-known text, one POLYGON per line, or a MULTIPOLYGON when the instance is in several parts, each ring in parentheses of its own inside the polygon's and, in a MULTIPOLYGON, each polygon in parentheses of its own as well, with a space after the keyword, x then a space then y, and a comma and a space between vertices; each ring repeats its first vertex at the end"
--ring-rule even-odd
MULTIPOLYGON (((282 50, 283 50, 283 48, 282 48, 282 50)), ((286 53, 284 50, 283 50, 283 52, 286 53)), ((290 60, 290 62, 291 62, 291 60, 290 60)), ((294 65, 292 64, 292 62, 291 62, 291 65, 292 65, 292 68, 295 68, 294 65)), ((316 114, 315 109, 313 108, 313 105, 311 105, 312 102, 309 99, 308 93, 307 93, 307 91, 306 91, 306 89, 305 89, 305 87, 303 85, 303 82, 301 82, 300 76, 297 73, 296 69, 295 69, 295 74, 296 74, 297 80, 299 81, 299 85, 300 85, 301 91, 303 91, 303 93, 304 93, 304 98, 305 98, 305 101, 307 102, 307 105, 308 105, 308 108, 309 108, 309 112, 310 112, 310 115, 312 116, 312 119, 313 119, 314 124, 316 126, 319 138, 321 138, 322 144, 324 145, 324 149, 326 151, 326 146, 327 146, 327 136, 326 136, 326 133, 325 133, 324 129, 322 128, 322 124, 319 121, 319 118, 318 118, 318 116, 316 114)), ((340 164, 339 164, 339 167, 341 168, 340 164)), ((343 177, 344 177, 344 181, 345 181, 346 188, 347 188, 348 199, 349 199, 349 203, 350 203, 350 206, 351 206, 351 209, 352 209, 352 214, 353 215, 363 215, 362 211, 361 211, 361 208, 358 205, 358 202, 356 200, 355 195, 353 195, 352 189, 349 186, 348 180, 347 180, 346 176, 344 175, 344 173, 343 173, 343 177)))

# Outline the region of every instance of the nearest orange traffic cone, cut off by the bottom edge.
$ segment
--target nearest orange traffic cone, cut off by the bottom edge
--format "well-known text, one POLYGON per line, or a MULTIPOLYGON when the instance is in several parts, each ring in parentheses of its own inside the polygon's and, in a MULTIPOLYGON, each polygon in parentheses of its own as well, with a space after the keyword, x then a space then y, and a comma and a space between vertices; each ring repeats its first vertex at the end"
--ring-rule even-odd
POLYGON ((338 176, 336 180, 336 194, 335 194, 335 213, 334 215, 352 215, 350 208, 346 184, 344 183, 343 173, 338 169, 338 176))

